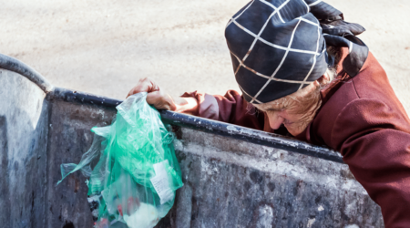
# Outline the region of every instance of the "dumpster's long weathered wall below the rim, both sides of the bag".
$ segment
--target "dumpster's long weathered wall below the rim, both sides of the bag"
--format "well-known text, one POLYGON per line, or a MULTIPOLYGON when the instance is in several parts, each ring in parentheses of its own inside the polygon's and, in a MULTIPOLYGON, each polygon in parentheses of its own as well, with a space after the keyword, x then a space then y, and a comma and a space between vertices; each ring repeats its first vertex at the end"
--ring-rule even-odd
MULTIPOLYGON (((114 114, 95 105, 52 102, 47 227, 91 227, 82 174, 54 185, 61 178, 59 165, 78 162, 91 145, 89 129, 109 124, 114 114)), ((380 208, 345 164, 176 130, 184 186, 157 227, 384 227, 380 208)))

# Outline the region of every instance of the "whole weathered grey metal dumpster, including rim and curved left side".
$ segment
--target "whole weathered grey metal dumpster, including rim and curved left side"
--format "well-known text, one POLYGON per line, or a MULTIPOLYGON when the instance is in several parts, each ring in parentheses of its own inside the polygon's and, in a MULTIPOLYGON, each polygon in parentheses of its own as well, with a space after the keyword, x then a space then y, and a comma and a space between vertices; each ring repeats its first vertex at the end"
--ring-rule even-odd
MULTIPOLYGON (((0 224, 92 227, 86 179, 60 185, 121 102, 56 88, 0 55, 0 224)), ((161 111, 184 186, 157 227, 384 227, 380 207, 341 156, 322 147, 210 119, 161 111)))

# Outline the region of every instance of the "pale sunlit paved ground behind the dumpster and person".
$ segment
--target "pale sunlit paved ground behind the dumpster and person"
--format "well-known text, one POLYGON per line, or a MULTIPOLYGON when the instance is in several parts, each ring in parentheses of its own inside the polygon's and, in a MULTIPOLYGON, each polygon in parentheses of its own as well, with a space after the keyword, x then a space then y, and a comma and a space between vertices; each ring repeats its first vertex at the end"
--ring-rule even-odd
MULTIPOLYGON (((54 85, 124 98, 151 77, 178 95, 237 88, 223 31, 248 0, 0 0, 0 53, 54 85)), ((387 71, 410 113, 410 2, 329 0, 387 71)))

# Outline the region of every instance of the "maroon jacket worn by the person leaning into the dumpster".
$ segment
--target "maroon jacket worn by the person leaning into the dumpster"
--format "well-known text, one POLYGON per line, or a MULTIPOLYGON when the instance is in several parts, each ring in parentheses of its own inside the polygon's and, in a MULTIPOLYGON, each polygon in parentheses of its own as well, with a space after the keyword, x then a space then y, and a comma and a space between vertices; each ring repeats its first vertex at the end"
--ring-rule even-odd
MULTIPOLYGON (((343 58, 346 49, 343 49, 343 58)), ((343 155, 354 177, 382 208, 386 227, 410 227, 410 119, 372 53, 360 73, 343 71, 322 90, 322 108, 296 138, 327 145, 343 155)), ((185 94, 200 103, 200 116, 271 131, 263 113, 236 91, 225 96, 185 94)))

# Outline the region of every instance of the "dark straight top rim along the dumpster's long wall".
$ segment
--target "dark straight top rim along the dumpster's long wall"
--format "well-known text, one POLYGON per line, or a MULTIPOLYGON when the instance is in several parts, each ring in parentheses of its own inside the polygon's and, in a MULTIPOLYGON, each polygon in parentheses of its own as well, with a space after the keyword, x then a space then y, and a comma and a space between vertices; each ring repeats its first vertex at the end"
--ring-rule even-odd
MULTIPOLYGON (((54 91, 47 95, 49 99, 58 99, 66 102, 92 105, 101 108, 115 109, 123 100, 97 96, 85 92, 67 89, 55 88, 54 91)), ((291 137, 279 134, 269 133, 262 130, 254 130, 231 123, 225 123, 213 119, 205 119, 187 114, 182 114, 169 110, 159 110, 161 119, 168 124, 200 130, 203 132, 229 137, 235 140, 248 141, 254 144, 268 146, 281 150, 288 150, 315 158, 344 163, 342 155, 334 150, 316 146, 291 137)))

